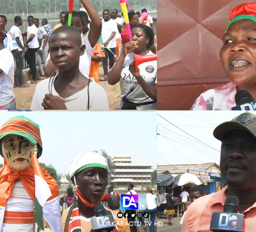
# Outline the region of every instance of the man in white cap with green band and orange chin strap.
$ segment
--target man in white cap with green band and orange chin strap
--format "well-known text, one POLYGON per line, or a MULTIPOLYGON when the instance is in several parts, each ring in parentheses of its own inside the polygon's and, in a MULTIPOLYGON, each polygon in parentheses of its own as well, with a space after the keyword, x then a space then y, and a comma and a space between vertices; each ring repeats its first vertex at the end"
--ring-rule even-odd
MULTIPOLYGON (((76 186, 78 200, 62 212, 64 232, 91 232, 91 218, 95 216, 94 207, 101 203, 108 184, 108 161, 93 151, 84 151, 71 161, 70 177, 76 186)), ((113 215, 116 228, 113 232, 130 232, 126 218, 118 218, 117 212, 108 207, 105 215, 113 215)))

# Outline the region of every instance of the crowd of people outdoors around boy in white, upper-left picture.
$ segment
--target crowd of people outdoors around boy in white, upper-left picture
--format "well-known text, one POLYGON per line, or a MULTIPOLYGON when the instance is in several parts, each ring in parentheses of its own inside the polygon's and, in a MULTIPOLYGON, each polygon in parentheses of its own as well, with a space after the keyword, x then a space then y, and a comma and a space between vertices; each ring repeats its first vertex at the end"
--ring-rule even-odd
POLYGON ((152 17, 145 8, 128 12, 133 39, 129 41, 117 9, 103 10, 101 19, 89 1, 80 1, 83 10, 73 11, 71 27, 68 12, 62 11, 53 29, 47 19, 40 22, 29 16, 27 30, 20 31, 23 20, 15 16, 7 32, 7 18, 0 15, 0 52, 4 54, 0 56, 0 96, 4 96, 0 109, 16 109, 13 88, 37 84, 30 110, 108 110, 107 94, 99 81, 120 82, 119 109, 157 109, 157 61, 137 67, 133 56, 156 54, 152 17), (29 83, 23 78, 24 59, 32 74, 29 83))

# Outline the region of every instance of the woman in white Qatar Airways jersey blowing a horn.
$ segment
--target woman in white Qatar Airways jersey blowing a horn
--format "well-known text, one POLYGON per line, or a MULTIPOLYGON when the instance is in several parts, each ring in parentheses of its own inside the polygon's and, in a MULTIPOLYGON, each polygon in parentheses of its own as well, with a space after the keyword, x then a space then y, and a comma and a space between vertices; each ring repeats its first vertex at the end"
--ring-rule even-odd
POLYGON ((133 41, 127 42, 108 74, 108 83, 120 82, 122 110, 157 109, 157 61, 144 62, 137 68, 134 54, 153 55, 154 32, 143 24, 134 25, 131 30, 133 41))

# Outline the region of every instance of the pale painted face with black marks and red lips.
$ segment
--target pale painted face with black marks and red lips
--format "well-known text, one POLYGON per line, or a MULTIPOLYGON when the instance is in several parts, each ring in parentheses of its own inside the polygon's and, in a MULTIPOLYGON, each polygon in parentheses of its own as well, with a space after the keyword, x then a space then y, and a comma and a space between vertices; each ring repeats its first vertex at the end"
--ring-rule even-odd
POLYGON ((3 158, 14 172, 32 165, 34 149, 38 149, 38 145, 22 136, 9 134, 2 139, 3 158))

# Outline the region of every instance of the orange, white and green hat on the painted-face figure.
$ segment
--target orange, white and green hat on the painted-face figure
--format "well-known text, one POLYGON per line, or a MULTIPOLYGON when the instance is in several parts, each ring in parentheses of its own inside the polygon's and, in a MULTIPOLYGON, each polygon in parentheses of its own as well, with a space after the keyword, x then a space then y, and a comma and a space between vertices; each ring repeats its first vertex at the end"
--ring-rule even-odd
POLYGON ((1 126, 0 140, 10 134, 22 136, 33 144, 38 144, 41 150, 43 150, 39 125, 25 116, 15 116, 1 126))

